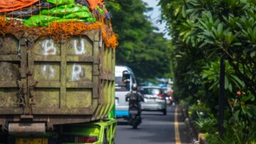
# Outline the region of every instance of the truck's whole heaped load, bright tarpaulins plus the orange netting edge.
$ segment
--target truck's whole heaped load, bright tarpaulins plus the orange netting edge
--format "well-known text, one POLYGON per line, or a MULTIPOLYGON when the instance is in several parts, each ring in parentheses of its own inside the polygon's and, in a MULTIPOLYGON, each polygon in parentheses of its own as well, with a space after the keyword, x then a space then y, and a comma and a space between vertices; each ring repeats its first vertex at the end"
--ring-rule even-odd
POLYGON ((107 48, 116 48, 111 14, 103 0, 6 0, 0 1, 0 33, 28 39, 50 36, 68 40, 72 35, 102 29, 107 48))

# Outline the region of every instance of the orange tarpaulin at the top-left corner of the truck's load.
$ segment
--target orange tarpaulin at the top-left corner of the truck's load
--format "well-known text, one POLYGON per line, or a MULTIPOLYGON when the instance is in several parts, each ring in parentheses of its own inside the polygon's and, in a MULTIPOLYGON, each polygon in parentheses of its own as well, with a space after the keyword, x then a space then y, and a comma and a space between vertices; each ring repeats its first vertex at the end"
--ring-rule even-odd
POLYGON ((31 4, 36 3, 39 0, 1 0, 0 12, 15 11, 31 4))

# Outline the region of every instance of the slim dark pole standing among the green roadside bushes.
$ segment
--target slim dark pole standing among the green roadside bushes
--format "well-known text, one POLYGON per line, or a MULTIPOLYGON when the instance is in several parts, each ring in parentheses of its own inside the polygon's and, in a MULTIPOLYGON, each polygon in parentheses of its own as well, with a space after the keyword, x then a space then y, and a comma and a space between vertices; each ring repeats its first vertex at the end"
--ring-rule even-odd
POLYGON ((220 138, 223 138, 224 133, 224 101, 225 101, 225 57, 220 59, 220 91, 218 96, 219 104, 219 119, 218 119, 218 131, 220 138))

